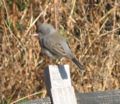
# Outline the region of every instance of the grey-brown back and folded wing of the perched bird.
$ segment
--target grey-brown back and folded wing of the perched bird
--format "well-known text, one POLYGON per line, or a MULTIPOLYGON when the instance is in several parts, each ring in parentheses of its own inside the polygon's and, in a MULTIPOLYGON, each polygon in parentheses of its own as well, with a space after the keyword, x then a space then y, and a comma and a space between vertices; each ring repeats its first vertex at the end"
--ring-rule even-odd
POLYGON ((66 40, 59 35, 49 35, 49 37, 43 39, 43 44, 52 54, 57 56, 68 56, 71 53, 66 40))

